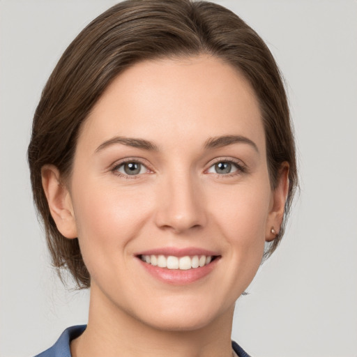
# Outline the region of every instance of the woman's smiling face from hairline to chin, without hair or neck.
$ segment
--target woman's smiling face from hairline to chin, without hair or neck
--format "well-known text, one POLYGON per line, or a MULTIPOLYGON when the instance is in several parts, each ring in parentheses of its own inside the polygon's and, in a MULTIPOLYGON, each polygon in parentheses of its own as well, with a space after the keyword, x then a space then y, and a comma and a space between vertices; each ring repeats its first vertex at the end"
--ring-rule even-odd
POLYGON ((276 227, 274 195, 243 76, 209 56, 144 61, 82 127, 67 236, 79 238, 99 305, 190 330, 231 315, 276 227))

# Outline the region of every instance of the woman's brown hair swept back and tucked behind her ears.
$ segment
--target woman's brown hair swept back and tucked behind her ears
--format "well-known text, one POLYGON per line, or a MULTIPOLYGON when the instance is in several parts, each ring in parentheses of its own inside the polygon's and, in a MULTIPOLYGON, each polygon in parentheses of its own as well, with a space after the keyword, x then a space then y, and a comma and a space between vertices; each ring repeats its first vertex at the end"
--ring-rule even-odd
POLYGON ((266 133, 272 188, 289 162, 289 195, 277 248, 297 185, 294 137, 284 85, 271 52, 257 33, 230 10, 190 0, 129 0, 102 13, 69 45, 43 90, 33 118, 28 158, 33 198, 45 226, 54 266, 68 268, 79 288, 90 286, 77 238, 62 236, 47 204, 41 167, 70 176, 82 123, 119 73, 138 61, 211 54, 240 70, 255 90, 266 133))

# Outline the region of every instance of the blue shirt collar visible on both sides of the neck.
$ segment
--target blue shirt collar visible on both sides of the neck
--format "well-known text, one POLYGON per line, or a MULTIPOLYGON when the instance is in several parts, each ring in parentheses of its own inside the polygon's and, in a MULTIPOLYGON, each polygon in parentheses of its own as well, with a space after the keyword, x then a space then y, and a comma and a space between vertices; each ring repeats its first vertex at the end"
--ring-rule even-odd
MULTIPOLYGON (((42 354, 38 354, 35 357, 72 357, 70 354, 70 341, 82 335, 83 331, 86 329, 86 325, 72 326, 66 328, 62 335, 59 337, 57 342, 46 349, 42 354)), ((234 349, 238 357, 250 357, 241 347, 236 344, 236 342, 231 342, 231 347, 234 349)))

